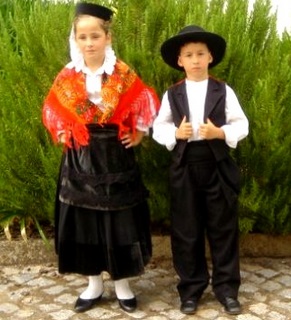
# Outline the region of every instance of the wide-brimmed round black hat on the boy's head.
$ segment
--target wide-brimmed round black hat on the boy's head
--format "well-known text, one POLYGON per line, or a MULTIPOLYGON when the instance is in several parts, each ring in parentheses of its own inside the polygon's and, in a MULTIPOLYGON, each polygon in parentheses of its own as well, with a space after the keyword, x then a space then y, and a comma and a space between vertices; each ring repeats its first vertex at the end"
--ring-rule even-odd
POLYGON ((172 68, 180 71, 184 70, 178 65, 178 56, 181 47, 188 42, 203 42, 207 45, 213 57, 209 68, 213 68, 223 59, 226 49, 225 40, 218 34, 205 31, 195 25, 190 25, 162 44, 161 54, 164 61, 172 68))

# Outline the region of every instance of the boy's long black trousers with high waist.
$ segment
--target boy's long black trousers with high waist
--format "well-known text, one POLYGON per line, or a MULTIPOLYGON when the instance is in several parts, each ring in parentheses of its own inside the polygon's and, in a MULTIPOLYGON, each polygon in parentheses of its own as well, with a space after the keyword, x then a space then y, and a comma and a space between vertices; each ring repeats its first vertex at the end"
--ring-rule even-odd
POLYGON ((188 143, 182 163, 171 166, 171 245, 181 301, 199 299, 209 284, 205 236, 217 299, 222 302, 226 296, 238 295, 237 196, 227 199, 221 179, 207 143, 188 143))

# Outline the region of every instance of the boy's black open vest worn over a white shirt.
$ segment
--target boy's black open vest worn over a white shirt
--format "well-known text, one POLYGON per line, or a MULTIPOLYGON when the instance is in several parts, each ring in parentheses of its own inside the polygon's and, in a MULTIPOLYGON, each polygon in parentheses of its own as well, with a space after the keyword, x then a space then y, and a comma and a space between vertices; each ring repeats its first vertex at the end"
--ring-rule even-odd
MULTIPOLYGON (((204 121, 209 118, 217 127, 221 127, 226 123, 225 120, 225 83, 217 81, 213 78, 208 80, 208 88, 204 107, 204 121)), ((175 84, 168 89, 168 99, 173 115, 173 121, 176 127, 180 126, 182 119, 186 116, 189 121, 189 105, 186 94, 185 80, 175 84)), ((209 146, 215 156, 216 161, 225 159, 229 155, 229 147, 224 140, 214 139, 207 140, 209 146)), ((178 140, 173 150, 173 160, 177 164, 182 160, 186 140, 178 140)))

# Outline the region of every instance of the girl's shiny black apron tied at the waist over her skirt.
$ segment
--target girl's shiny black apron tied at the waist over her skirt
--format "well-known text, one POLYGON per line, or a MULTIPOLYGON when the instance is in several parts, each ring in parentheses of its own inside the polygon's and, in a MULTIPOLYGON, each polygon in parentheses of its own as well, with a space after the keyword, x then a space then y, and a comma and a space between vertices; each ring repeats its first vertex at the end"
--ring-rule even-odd
POLYGON ((64 154, 59 200, 96 210, 125 209, 147 197, 133 148, 118 140, 116 126, 88 125, 88 146, 64 154))

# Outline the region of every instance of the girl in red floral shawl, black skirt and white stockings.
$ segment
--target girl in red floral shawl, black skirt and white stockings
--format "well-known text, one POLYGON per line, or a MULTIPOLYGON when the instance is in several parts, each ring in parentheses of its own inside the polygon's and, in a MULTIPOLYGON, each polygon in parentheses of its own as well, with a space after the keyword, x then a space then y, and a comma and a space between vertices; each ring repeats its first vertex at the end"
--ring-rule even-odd
POLYGON ((127 281, 140 275, 152 248, 145 189, 134 157, 159 101, 111 47, 113 12, 79 3, 70 36, 72 61, 45 100, 43 122, 64 144, 55 206, 60 273, 89 276, 76 312, 101 299, 102 271, 114 280, 119 305, 137 301, 127 281))

